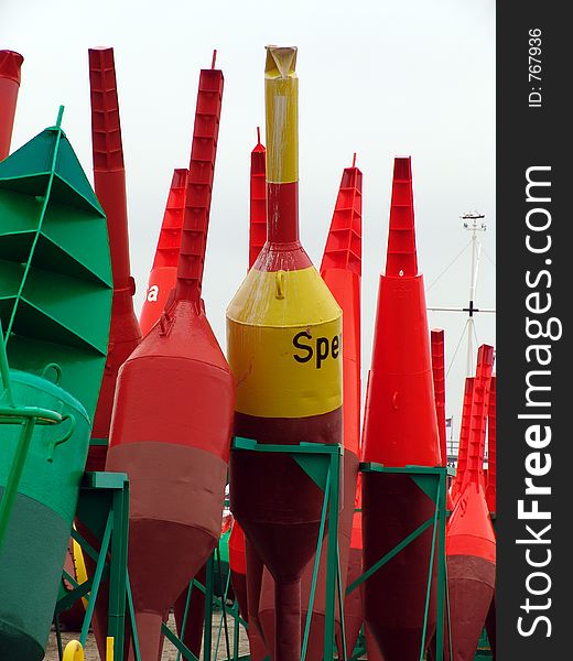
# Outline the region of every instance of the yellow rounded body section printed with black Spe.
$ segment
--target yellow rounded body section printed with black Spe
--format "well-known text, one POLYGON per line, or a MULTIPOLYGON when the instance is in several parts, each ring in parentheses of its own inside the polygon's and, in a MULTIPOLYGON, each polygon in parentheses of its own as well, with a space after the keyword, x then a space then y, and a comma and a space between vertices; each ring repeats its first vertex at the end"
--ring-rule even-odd
POLYGON ((343 401, 342 310, 314 267, 249 271, 227 310, 236 410, 306 418, 343 401))

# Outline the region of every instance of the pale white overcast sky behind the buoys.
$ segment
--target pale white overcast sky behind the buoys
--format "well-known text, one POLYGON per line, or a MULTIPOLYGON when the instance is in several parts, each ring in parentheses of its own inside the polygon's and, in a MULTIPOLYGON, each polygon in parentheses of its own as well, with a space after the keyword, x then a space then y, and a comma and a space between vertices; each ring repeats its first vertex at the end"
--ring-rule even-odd
MULTIPOLYGON (((0 48, 25 58, 12 150, 53 124, 62 104, 91 180, 87 50, 112 46, 139 312, 172 171, 188 165, 198 72, 217 48, 225 91, 203 292, 225 348, 225 308, 247 269, 249 158, 264 126, 269 43, 299 47, 301 235, 317 267, 353 152, 364 172, 366 381, 394 155, 412 156, 428 304, 466 304, 468 249, 430 285, 469 240, 460 216, 478 210, 487 231, 476 301, 495 307, 495 0, 0 0, 0 48)), ((429 322, 446 330, 450 366, 465 316, 430 313, 429 322)), ((479 343, 495 345, 494 315, 476 326, 479 343)), ((447 379, 456 435, 465 347, 447 379)))

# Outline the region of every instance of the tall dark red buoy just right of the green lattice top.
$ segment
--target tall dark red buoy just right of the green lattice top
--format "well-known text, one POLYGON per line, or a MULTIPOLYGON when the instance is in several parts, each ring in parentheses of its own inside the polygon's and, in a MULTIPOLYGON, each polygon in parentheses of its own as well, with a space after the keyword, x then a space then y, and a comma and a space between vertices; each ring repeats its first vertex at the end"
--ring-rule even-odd
MULTIPOLYGON (((126 358, 138 346, 141 332, 133 313, 136 283, 131 277, 129 264, 126 171, 113 48, 89 48, 88 53, 94 183, 96 195, 106 212, 113 273, 108 357, 94 416, 91 437, 108 438, 118 371, 126 358)), ((106 451, 105 445, 91 446, 86 470, 102 470, 106 451)))

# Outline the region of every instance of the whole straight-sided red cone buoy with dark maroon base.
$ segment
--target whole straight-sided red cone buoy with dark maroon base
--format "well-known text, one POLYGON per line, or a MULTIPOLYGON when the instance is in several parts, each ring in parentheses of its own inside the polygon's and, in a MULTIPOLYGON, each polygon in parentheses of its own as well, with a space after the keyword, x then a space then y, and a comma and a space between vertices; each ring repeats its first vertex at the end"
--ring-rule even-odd
MULTIPOLYGON (((378 290, 365 411, 364 460, 385 466, 441 464, 410 158, 394 160, 386 273, 378 290)), ((433 511, 434 503, 408 475, 365 473, 364 570, 433 511)), ((431 543, 432 532, 426 530, 364 585, 365 619, 386 661, 420 657, 431 543)), ((435 581, 432 585, 426 644, 435 629, 435 581)))

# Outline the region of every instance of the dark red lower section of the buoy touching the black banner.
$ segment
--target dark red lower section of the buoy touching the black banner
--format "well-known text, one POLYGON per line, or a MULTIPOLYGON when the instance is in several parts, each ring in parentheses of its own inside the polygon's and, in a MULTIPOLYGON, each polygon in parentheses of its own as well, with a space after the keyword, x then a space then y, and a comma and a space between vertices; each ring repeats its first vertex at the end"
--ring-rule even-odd
POLYGON ((494 598, 496 565, 475 555, 447 556, 452 661, 473 661, 494 598))

